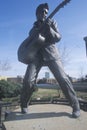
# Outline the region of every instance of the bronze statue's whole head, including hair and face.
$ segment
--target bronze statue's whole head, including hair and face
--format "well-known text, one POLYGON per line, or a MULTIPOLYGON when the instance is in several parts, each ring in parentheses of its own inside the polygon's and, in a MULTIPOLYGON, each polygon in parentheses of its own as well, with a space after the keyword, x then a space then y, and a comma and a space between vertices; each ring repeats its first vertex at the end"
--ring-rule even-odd
POLYGON ((40 4, 36 8, 37 20, 44 21, 46 19, 46 17, 47 17, 48 11, 49 11, 49 6, 48 6, 47 3, 40 4))

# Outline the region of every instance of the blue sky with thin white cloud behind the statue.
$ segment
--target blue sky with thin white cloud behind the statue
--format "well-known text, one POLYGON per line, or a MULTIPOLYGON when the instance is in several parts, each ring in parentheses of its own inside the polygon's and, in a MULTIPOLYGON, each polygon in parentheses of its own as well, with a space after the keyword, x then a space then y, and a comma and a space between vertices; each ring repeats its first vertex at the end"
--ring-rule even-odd
MULTIPOLYGON (((18 61, 17 50, 36 20, 35 10, 39 4, 48 3, 50 14, 61 2, 62 0, 0 0, 0 61, 9 61, 11 65, 8 71, 0 70, 0 76, 16 77, 25 74, 27 65, 18 61)), ((76 78, 87 75, 83 40, 87 36, 87 0, 71 0, 53 19, 58 23, 62 35, 56 46, 60 52, 66 48, 68 54, 64 71, 76 78)), ((47 71, 47 67, 42 67, 39 77, 44 77, 44 72, 47 71)))

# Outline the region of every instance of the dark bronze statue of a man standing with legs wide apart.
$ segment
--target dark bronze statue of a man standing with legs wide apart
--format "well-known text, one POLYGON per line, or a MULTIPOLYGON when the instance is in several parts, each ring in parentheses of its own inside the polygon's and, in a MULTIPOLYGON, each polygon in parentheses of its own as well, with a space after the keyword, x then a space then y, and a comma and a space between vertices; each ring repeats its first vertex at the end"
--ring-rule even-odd
MULTIPOLYGON (((49 7, 47 3, 40 4, 37 7, 37 21, 29 32, 30 37, 32 37, 35 32, 39 32, 40 27, 46 20, 48 11, 49 7)), ((55 46, 55 43, 61 39, 56 22, 52 19, 48 19, 45 23, 44 29, 42 29, 42 31, 40 30, 40 35, 44 37, 44 43, 38 50, 34 60, 28 64, 21 93, 21 112, 28 112, 29 101, 34 91, 34 83, 36 82, 41 67, 45 65, 49 67, 66 98, 69 100, 70 105, 73 108, 72 116, 77 118, 80 116, 79 102, 73 86, 63 70, 59 52, 55 46)))

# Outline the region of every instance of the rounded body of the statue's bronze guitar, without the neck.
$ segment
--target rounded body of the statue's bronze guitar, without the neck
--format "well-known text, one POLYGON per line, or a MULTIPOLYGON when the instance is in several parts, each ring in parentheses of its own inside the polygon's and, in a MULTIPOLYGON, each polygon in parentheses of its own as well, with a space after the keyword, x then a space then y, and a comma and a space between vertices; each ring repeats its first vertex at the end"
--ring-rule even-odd
POLYGON ((24 64, 34 61, 39 49, 44 45, 45 38, 37 34, 34 39, 28 36, 18 48, 18 60, 24 64))

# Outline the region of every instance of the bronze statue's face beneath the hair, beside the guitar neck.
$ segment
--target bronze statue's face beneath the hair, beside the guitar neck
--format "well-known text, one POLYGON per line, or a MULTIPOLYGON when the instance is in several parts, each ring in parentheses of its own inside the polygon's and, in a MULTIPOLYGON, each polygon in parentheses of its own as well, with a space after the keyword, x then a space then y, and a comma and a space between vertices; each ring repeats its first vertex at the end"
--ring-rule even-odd
POLYGON ((37 14, 37 20, 44 21, 47 17, 48 10, 46 8, 43 8, 39 11, 37 14))

